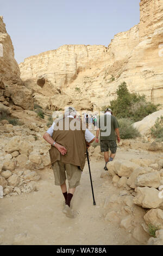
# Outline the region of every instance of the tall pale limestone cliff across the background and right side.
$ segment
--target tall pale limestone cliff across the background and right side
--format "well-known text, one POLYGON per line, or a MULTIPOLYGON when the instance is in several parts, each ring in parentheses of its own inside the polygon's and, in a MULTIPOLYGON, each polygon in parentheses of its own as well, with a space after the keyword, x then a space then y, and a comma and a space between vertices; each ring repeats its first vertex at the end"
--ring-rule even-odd
POLYGON ((130 92, 163 103, 163 4, 141 0, 140 23, 118 33, 108 47, 63 45, 20 63, 21 78, 43 108, 97 109, 115 98, 125 81, 130 92), (82 101, 80 101, 82 102, 82 101))

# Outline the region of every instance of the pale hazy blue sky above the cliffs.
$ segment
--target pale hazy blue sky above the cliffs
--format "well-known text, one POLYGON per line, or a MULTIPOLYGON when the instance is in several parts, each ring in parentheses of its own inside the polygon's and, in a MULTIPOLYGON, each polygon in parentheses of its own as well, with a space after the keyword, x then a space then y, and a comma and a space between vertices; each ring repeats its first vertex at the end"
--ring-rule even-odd
POLYGON ((105 45, 139 23, 140 0, 0 0, 18 63, 65 44, 105 45))

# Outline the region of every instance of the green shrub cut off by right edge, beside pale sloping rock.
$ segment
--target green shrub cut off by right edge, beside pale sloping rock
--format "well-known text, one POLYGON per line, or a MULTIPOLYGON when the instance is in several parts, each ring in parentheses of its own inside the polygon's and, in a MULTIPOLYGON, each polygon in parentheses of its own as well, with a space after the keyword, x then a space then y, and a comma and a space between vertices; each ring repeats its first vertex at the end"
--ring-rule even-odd
POLYGON ((157 118, 154 126, 151 128, 151 134, 154 138, 163 141, 163 116, 157 118))

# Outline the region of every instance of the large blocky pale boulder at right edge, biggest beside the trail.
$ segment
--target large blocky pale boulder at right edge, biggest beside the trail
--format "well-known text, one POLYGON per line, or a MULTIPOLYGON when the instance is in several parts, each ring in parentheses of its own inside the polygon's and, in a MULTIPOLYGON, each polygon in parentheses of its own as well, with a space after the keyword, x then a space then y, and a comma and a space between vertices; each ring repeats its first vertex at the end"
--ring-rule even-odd
POLYGON ((143 208, 163 209, 163 198, 159 198, 159 191, 154 187, 137 187, 135 189, 136 196, 133 199, 134 204, 142 206, 143 208))

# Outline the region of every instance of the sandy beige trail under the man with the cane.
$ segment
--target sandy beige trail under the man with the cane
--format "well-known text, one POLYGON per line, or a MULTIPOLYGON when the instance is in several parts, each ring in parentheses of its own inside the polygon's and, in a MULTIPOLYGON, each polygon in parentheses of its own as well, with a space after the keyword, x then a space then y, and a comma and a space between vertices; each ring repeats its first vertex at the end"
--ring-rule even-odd
MULTIPOLYGON (((119 153, 120 156, 120 153, 119 153)), ((118 154, 116 156, 118 158, 118 154)), ((121 154, 121 158, 123 154, 121 154)), ((72 198, 75 218, 63 213, 64 197, 59 186, 54 186, 52 169, 39 171, 41 179, 37 192, 0 200, 1 245, 137 245, 140 244, 126 230, 106 222, 102 200, 118 194, 120 188, 100 178, 104 161, 91 157, 91 174, 96 206, 93 205, 87 162, 80 186, 72 198), (18 235, 21 234, 21 235, 18 235)))

